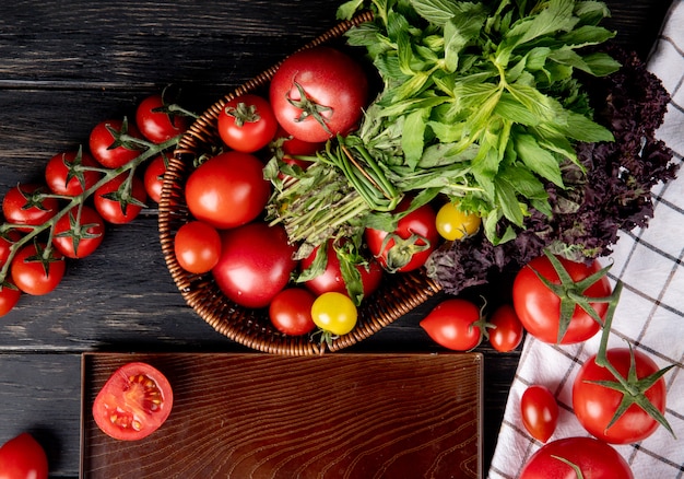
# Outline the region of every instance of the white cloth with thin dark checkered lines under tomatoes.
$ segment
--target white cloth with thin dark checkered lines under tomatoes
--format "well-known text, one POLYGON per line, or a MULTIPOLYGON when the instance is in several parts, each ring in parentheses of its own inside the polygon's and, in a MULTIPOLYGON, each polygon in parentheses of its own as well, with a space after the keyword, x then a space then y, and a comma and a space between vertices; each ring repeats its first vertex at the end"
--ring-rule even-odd
MULTIPOLYGON (((674 0, 648 61, 672 96, 658 137, 684 156, 684 0, 674 0)), ((611 279, 624 290, 613 320, 609 347, 629 340, 664 367, 668 387, 665 418, 676 440, 662 427, 641 443, 615 446, 635 478, 684 477, 684 166, 679 179, 653 189, 654 218, 649 227, 622 233, 611 259, 611 279)), ((519 476, 542 443, 533 440, 520 419, 520 397, 531 384, 555 393, 558 427, 550 441, 589 435, 573 413, 573 381, 582 363, 598 351, 600 334, 583 344, 556 347, 528 336, 509 393, 490 479, 519 476)))

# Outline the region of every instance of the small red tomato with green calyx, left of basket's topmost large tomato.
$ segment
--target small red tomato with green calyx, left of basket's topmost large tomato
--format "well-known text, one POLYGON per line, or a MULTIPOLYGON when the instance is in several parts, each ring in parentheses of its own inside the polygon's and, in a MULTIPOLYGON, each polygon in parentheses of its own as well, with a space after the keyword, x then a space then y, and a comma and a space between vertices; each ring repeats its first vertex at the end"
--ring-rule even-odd
POLYGON ((219 115, 219 135, 228 148, 236 151, 252 153, 261 150, 276 131, 278 120, 269 102, 250 93, 227 102, 219 115))

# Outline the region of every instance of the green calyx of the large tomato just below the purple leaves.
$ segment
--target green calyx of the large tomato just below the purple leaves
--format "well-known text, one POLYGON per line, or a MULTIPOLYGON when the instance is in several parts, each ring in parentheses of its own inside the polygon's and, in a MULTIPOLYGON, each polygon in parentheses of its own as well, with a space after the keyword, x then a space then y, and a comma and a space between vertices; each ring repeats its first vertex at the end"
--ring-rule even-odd
POLYGON ((603 326, 603 319, 601 318, 599 313, 597 313, 591 303, 609 303, 612 301, 612 295, 604 297, 592 297, 587 296, 585 293, 589 288, 591 288, 591 285, 600 281, 603 277, 605 277, 605 274, 608 274, 612 265, 608 265, 601 268, 599 271, 588 276, 583 280, 575 281, 555 255, 546 249, 544 250, 544 255, 546 255, 549 261, 558 274, 561 284, 556 284, 550 281, 533 267, 529 266, 529 268, 534 272, 534 274, 536 274, 539 280, 561 300, 557 342, 561 343, 561 341, 565 337, 565 334, 570 326, 573 314, 575 313, 575 308, 577 306, 583 309, 599 325, 603 326))

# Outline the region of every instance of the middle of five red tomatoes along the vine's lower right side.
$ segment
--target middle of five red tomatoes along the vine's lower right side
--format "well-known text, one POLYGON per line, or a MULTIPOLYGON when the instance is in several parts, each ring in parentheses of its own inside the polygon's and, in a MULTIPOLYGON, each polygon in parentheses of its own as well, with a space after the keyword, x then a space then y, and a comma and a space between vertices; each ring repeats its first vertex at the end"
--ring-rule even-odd
POLYGON ((55 224, 52 244, 68 258, 85 258, 92 255, 105 237, 105 221, 93 208, 73 207, 55 224))

